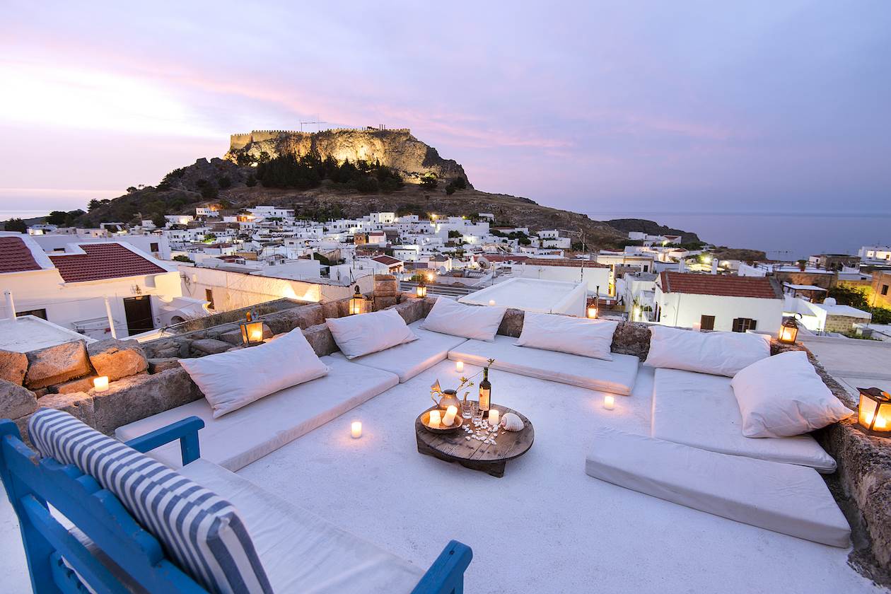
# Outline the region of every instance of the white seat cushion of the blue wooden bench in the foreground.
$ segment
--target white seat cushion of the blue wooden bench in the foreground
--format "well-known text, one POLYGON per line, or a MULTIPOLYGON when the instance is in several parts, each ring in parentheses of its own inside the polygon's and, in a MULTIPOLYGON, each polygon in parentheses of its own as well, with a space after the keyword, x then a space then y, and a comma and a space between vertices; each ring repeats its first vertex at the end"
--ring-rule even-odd
POLYGON ((208 460, 195 460, 180 472, 238 509, 275 592, 407 593, 424 574, 208 460))

